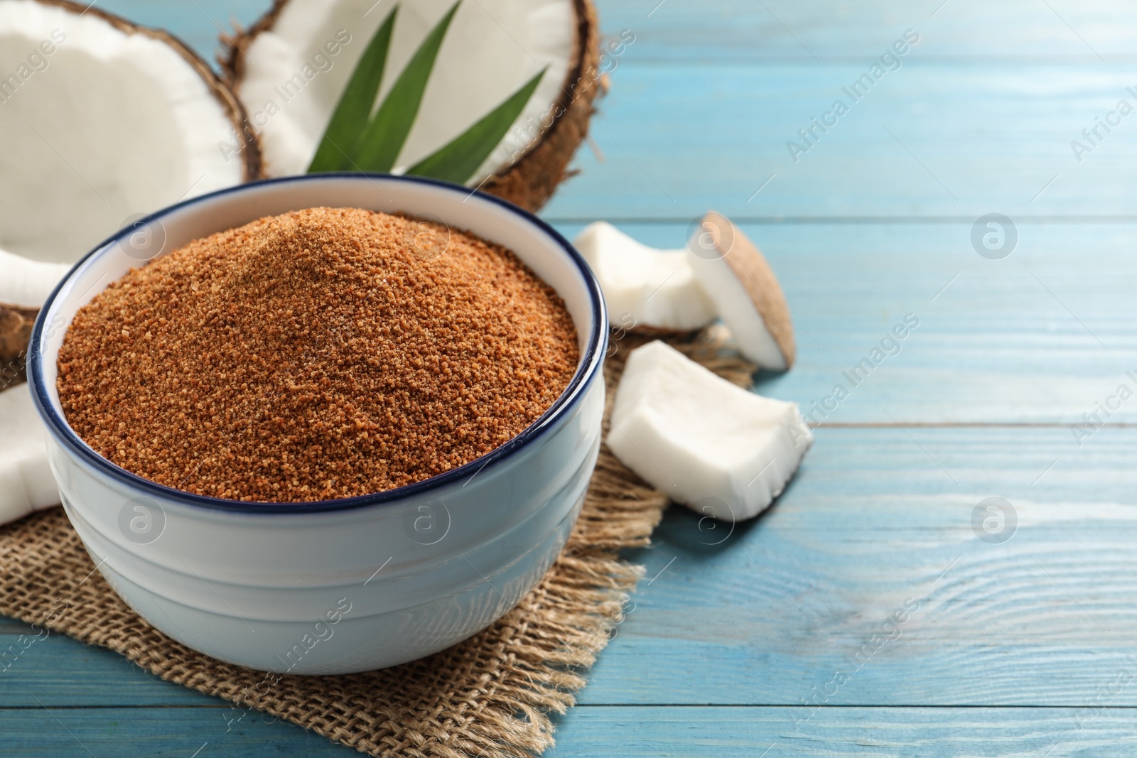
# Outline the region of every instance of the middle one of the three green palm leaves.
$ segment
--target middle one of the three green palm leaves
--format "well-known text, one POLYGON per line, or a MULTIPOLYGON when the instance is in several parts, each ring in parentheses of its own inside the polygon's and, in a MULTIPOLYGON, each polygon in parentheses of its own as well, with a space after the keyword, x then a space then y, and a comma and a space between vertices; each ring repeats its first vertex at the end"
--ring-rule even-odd
POLYGON ((423 92, 430 78, 442 38, 462 0, 454 3, 415 51, 383 99, 375 117, 364 127, 356 142, 355 161, 365 172, 389 172, 399 157, 410 127, 418 115, 423 92))

